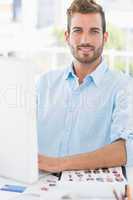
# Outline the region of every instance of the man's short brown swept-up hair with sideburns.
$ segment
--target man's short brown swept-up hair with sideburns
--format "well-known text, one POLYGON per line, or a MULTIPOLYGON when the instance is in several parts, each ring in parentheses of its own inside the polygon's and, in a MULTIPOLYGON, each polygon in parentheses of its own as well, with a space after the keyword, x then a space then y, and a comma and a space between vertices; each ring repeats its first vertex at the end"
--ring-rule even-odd
POLYGON ((74 0, 67 9, 67 30, 70 32, 71 17, 74 13, 99 13, 102 18, 103 33, 106 32, 106 20, 103 8, 94 0, 74 0))

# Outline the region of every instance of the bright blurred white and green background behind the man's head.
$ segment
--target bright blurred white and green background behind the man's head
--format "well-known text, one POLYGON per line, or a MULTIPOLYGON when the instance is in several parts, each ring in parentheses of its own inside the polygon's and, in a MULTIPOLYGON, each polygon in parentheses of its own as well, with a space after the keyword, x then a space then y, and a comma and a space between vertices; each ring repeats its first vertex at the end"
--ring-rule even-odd
MULTIPOLYGON (((133 0, 97 0, 104 7, 110 39, 104 55, 111 68, 133 75, 133 0)), ((0 56, 32 61, 35 73, 64 67, 71 55, 64 41, 71 0, 0 0, 0 56)))

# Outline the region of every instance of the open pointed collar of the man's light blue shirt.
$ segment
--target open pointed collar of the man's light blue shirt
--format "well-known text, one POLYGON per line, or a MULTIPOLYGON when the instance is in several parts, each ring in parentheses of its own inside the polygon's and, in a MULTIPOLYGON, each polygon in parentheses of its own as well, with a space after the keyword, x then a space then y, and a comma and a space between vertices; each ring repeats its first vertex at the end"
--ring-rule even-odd
MULTIPOLYGON (((95 83, 95 85, 98 87, 100 82, 102 81, 103 75, 104 75, 104 73, 106 72, 107 69, 108 69, 107 64, 103 60, 99 64, 99 66, 96 68, 96 70, 93 71, 91 74, 87 75, 85 77, 85 79, 87 80, 87 79, 90 79, 90 77, 91 77, 93 82, 95 83)), ((71 78, 76 78, 74 68, 73 68, 73 63, 65 71, 64 78, 66 80, 71 79, 71 78)))

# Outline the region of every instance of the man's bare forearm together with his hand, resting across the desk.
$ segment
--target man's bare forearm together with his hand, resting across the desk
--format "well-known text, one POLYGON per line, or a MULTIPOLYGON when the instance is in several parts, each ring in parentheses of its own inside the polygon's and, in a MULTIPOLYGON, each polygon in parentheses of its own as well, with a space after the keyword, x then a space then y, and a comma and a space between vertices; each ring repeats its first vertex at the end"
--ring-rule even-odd
POLYGON ((125 141, 119 140, 93 152, 66 157, 39 155, 39 169, 60 172, 65 170, 95 169, 125 165, 127 161, 125 141))

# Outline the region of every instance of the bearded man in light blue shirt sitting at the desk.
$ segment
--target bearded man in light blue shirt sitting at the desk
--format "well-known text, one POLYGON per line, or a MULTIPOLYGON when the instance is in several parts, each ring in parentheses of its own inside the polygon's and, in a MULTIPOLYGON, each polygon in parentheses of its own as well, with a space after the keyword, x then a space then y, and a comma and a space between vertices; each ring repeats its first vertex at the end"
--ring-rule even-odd
POLYGON ((73 63, 45 74, 37 87, 39 168, 132 165, 131 83, 102 58, 108 39, 103 9, 93 0, 74 0, 67 17, 73 63))

